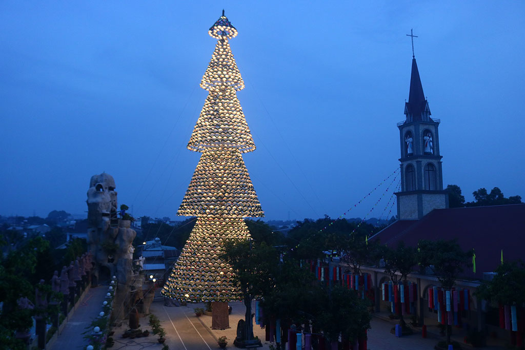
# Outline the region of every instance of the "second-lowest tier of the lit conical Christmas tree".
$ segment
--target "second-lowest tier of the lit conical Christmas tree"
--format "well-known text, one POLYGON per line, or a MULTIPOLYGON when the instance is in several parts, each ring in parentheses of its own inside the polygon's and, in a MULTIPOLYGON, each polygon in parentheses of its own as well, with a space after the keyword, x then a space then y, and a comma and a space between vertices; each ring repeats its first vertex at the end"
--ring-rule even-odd
POLYGON ((238 150, 217 148, 203 153, 177 215, 264 216, 238 150))

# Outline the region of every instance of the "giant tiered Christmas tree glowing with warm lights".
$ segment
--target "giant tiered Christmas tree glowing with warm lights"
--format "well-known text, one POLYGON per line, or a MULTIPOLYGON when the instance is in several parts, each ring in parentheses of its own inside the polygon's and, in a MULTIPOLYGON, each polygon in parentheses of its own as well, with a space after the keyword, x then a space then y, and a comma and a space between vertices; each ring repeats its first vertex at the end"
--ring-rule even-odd
POLYGON ((241 155, 255 144, 236 96, 244 81, 228 39, 237 30, 223 12, 208 34, 218 39, 201 81, 209 94, 187 146, 202 156, 177 213, 197 222, 161 291, 189 302, 241 299, 232 268, 218 257, 225 240, 250 237, 243 217, 264 216, 241 155))

